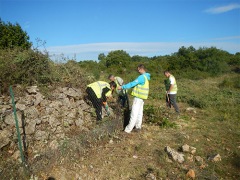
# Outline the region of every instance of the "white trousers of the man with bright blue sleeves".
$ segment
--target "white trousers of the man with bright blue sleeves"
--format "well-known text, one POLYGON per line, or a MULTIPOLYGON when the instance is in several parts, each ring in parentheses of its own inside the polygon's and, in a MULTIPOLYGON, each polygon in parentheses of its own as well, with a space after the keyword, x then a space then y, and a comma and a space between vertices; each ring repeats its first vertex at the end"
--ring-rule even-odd
POLYGON ((130 115, 130 121, 124 130, 125 132, 130 133, 134 128, 134 126, 137 129, 141 129, 142 118, 143 118, 143 105, 144 105, 144 101, 142 99, 134 97, 132 111, 130 115))

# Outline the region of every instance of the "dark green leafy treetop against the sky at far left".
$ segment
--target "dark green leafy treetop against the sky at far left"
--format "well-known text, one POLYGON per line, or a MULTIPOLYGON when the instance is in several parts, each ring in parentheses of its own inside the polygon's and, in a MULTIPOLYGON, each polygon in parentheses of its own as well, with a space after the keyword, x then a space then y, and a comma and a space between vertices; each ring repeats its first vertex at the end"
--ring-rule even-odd
POLYGON ((29 42, 29 36, 18 23, 5 23, 0 19, 0 37, 0 49, 15 47, 29 49, 32 46, 32 43, 29 42))

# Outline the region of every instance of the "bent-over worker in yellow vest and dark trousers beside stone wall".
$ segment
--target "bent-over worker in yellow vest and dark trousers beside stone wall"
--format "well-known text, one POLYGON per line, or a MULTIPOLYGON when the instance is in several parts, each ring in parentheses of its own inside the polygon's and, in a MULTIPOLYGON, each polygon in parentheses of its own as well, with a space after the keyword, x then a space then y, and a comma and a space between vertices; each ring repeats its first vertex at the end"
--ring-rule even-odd
POLYGON ((86 92, 96 110, 98 121, 102 120, 102 106, 106 109, 107 114, 110 115, 107 98, 112 96, 112 92, 116 87, 117 85, 115 82, 107 83, 104 81, 97 81, 87 85, 86 92))

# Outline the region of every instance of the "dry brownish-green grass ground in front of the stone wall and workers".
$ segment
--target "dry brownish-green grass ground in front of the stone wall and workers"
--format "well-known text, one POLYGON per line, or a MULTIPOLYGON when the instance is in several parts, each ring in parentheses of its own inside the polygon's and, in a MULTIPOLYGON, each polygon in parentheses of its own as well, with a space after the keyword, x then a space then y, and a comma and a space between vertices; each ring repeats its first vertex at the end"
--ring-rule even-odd
POLYGON ((39 179, 54 177, 66 180, 147 179, 149 173, 156 179, 188 179, 186 173, 193 169, 196 179, 239 179, 240 107, 239 104, 228 104, 229 101, 239 101, 239 89, 232 90, 233 97, 232 94, 227 96, 225 92, 229 90, 218 87, 226 76, 196 82, 178 82, 183 88, 179 92, 179 96, 183 98, 179 102, 179 119, 161 114, 169 111, 164 107, 164 99, 150 99, 146 102, 146 105, 161 107, 159 111, 153 111, 159 116, 159 120, 168 117, 176 126, 163 128, 158 123, 149 124, 145 119, 140 133, 126 135, 121 131, 122 119, 119 114, 119 119, 107 120, 87 134, 76 134, 67 139, 56 152, 46 151, 32 162, 30 174, 39 179), (204 87, 211 89, 211 92, 204 87), (189 96, 185 97, 185 93, 189 93, 189 96), (216 101, 216 106, 212 106, 213 94, 216 99, 221 100, 216 101), (199 103, 205 103, 206 106, 194 107, 196 112, 187 111, 187 98, 197 98, 199 103), (233 112, 232 116, 227 115, 224 108, 233 112), (182 164, 169 159, 164 148, 170 146, 179 150, 184 144, 197 148, 196 153, 184 153, 185 161, 182 164), (220 154, 222 160, 209 161, 208 157, 214 154, 220 154), (196 156, 202 157, 203 162, 197 162, 196 156))

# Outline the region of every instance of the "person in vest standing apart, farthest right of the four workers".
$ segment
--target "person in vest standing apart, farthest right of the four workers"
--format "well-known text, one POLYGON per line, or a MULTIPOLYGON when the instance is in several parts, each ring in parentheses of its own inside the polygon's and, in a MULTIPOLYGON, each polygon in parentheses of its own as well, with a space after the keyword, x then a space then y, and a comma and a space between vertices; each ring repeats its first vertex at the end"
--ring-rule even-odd
POLYGON ((164 71, 164 75, 170 81, 170 86, 166 90, 167 91, 166 92, 167 96, 169 97, 169 101, 170 101, 170 107, 172 105, 174 107, 176 113, 179 114, 180 111, 179 111, 178 105, 176 103, 176 99, 177 99, 177 82, 176 82, 176 79, 169 71, 164 71))

